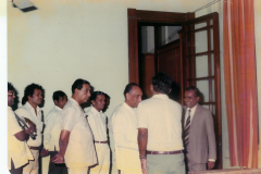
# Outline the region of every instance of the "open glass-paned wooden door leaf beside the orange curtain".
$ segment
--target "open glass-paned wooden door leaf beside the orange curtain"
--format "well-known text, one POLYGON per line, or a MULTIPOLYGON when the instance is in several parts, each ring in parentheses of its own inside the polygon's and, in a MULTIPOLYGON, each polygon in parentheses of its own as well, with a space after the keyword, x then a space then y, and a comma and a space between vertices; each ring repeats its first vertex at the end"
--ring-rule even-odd
POLYGON ((202 94, 200 104, 213 114, 216 167, 222 169, 219 14, 215 12, 187 21, 179 39, 183 48, 184 89, 190 85, 198 87, 202 94))

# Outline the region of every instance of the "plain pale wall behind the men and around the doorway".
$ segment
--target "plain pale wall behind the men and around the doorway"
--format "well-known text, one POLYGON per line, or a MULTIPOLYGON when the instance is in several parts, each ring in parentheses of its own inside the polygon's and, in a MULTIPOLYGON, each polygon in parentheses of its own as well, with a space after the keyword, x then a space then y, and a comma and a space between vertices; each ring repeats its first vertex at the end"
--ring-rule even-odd
MULTIPOLYGON (((210 1, 32 0, 38 10, 28 13, 21 12, 8 2, 8 80, 17 88, 20 99, 26 85, 30 83, 42 85, 46 89, 44 112, 47 114, 53 107, 51 96, 54 90, 61 89, 71 96, 72 83, 76 78, 85 78, 96 90, 102 90, 111 96, 111 104, 107 111, 110 116, 113 109, 123 102, 123 89, 128 83, 127 8, 191 12, 210 1)), ((258 0, 256 3, 261 7, 258 0)), ((220 13, 221 70, 223 70, 221 4, 222 2, 219 2, 197 12, 196 16, 213 11, 220 13)), ((260 16, 260 12, 257 13, 260 16)), ((260 22, 258 29, 260 30, 260 22)), ((257 52, 257 60, 258 66, 261 67, 259 58, 260 51, 257 52)), ((224 78, 223 71, 221 72, 223 165, 228 167, 224 78)), ((258 83, 260 86, 261 82, 258 83)), ((44 169, 44 173, 46 172, 47 169, 44 169)))

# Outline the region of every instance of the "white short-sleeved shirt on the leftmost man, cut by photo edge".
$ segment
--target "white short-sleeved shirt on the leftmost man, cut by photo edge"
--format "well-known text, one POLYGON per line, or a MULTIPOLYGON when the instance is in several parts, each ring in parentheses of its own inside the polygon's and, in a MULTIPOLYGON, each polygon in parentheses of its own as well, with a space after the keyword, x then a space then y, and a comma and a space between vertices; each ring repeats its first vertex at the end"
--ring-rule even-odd
POLYGON ((34 160, 30 150, 26 141, 20 141, 14 136, 16 133, 23 129, 18 125, 15 119, 13 110, 8 107, 8 165, 11 170, 11 159, 13 160, 14 167, 17 169, 23 166, 28 162, 28 160, 34 160))

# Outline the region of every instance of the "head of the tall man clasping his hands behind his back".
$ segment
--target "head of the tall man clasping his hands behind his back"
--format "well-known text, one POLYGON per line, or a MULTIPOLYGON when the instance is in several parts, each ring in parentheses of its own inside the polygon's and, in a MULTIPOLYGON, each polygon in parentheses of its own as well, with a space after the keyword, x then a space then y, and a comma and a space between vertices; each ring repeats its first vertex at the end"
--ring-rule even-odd
POLYGON ((90 83, 85 79, 76 79, 72 86, 73 98, 79 103, 85 103, 90 97, 90 83))

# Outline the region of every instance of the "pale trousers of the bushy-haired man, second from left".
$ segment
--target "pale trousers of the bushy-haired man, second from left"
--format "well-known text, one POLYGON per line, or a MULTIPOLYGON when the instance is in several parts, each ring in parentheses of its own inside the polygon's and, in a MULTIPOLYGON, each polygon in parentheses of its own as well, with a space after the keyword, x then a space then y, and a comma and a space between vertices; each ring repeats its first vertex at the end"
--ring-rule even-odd
POLYGON ((28 164, 23 167, 23 174, 38 174, 39 170, 39 150, 30 149, 34 160, 29 160, 28 164))

